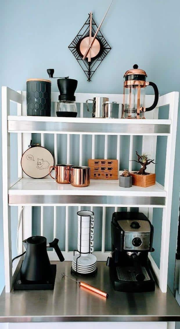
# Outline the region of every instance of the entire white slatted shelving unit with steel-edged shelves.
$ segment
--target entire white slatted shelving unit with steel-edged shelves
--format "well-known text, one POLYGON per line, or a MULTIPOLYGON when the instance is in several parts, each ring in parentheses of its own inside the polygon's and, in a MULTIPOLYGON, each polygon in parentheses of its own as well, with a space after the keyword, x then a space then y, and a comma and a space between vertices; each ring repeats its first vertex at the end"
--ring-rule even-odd
MULTIPOLYGON (((168 254, 170 238, 170 216, 172 200, 173 169, 175 157, 176 126, 178 112, 178 92, 171 92, 160 96, 157 108, 146 113, 146 120, 120 119, 123 95, 96 94, 96 96, 109 97, 111 101, 119 103, 117 119, 94 119, 83 117, 83 106, 86 99, 91 99, 94 94, 76 94, 76 102, 80 103, 80 117, 57 118, 35 117, 26 115, 26 92, 14 91, 8 87, 2 87, 2 139, 3 139, 3 221, 4 221, 4 250, 5 250, 5 284, 6 292, 10 292, 13 285, 15 268, 11 266, 11 206, 18 206, 20 213, 22 206, 23 220, 19 228, 19 252, 23 250, 22 240, 32 234, 32 206, 41 206, 41 235, 44 234, 44 206, 53 206, 53 235, 57 231, 57 206, 66 206, 66 231, 65 251, 66 260, 72 259, 69 252, 69 207, 90 206, 102 207, 102 248, 95 252, 98 260, 106 260, 109 251, 105 250, 106 207, 138 207, 139 211, 146 214, 152 221, 153 208, 163 208, 160 267, 156 265, 149 255, 151 265, 156 274, 159 287, 162 292, 167 291, 168 254), (17 103, 17 115, 10 115, 10 101, 17 103), (169 105, 169 118, 158 119, 158 109, 169 105), (10 184, 10 133, 18 136, 18 177, 19 180, 10 184), (20 160, 22 153, 28 148, 31 134, 41 134, 41 145, 44 146, 44 134, 54 134, 54 158, 57 163, 58 134, 67 136, 67 163, 70 163, 70 135, 79 135, 79 165, 83 163, 83 135, 92 135, 91 158, 95 158, 95 136, 104 135, 104 158, 108 157, 108 136, 117 136, 116 158, 120 161, 121 135, 130 136, 129 160, 132 159, 133 136, 142 137, 142 152, 150 153, 151 158, 156 156, 157 136, 167 136, 165 184, 149 188, 120 188, 118 181, 93 181, 87 188, 74 188, 71 185, 59 185, 50 178, 34 180, 28 178, 21 169, 20 160)), ((146 106, 153 102, 151 95, 146 96, 146 106)), ((51 101, 54 103, 54 113, 58 102, 58 93, 52 92, 51 101)), ((51 111, 51 115, 52 115, 51 111)), ((55 114, 54 114, 55 115, 55 114)), ((132 170, 132 162, 129 162, 129 170, 132 170)), ((150 164, 150 172, 155 172, 155 165, 150 164)), ((53 251, 49 252, 51 260, 57 260, 53 251)), ((16 262, 16 270, 21 260, 16 262)))

